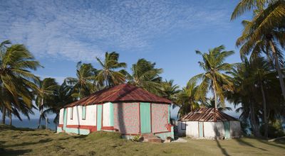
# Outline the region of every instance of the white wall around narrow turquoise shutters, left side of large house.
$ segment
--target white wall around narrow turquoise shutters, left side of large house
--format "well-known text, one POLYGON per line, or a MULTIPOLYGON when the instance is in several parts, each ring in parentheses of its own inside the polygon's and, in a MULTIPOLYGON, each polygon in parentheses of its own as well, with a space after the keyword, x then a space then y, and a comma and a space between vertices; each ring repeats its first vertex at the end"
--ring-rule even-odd
POLYGON ((68 108, 67 125, 83 125, 95 126, 96 125, 96 105, 86 106, 86 119, 82 120, 82 106, 73 107, 73 119, 71 120, 71 108, 68 108))

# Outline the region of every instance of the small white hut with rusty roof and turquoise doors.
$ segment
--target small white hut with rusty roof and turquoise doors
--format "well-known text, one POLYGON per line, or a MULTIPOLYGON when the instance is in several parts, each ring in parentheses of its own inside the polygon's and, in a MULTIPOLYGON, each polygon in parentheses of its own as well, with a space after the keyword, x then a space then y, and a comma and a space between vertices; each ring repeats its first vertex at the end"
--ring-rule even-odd
POLYGON ((192 138, 240 138, 240 122, 215 108, 198 108, 178 120, 179 135, 192 138))

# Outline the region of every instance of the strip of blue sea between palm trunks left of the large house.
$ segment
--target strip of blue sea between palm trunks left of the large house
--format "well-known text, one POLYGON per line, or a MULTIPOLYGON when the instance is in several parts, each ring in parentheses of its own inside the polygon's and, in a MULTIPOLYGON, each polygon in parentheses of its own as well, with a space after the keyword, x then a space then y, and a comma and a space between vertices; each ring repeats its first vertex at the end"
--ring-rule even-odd
MULTIPOLYGON (((6 120, 6 124, 9 124, 9 120, 6 120)), ((38 128, 38 119, 37 118, 31 118, 23 119, 20 121, 19 119, 12 119, 12 125, 17 128, 38 128)), ((46 126, 46 121, 41 121, 41 125, 46 126)), ((50 121, 48 123, 48 128, 51 130, 56 130, 56 125, 53 123, 53 121, 50 121)))

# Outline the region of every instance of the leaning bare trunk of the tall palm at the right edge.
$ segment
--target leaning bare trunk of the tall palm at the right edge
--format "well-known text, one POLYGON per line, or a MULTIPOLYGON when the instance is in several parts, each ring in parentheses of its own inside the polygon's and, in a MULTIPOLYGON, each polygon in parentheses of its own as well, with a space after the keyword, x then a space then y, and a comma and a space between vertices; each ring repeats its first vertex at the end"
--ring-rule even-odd
POLYGON ((277 56, 277 54, 276 54, 276 50, 275 50, 275 48, 274 48, 274 45, 273 45, 272 41, 269 41, 269 43, 270 43, 270 46, 271 46, 271 50, 272 50, 273 57, 274 57, 274 63, 275 63, 276 70, 277 70, 277 73, 278 73, 278 77, 279 77, 279 82, 280 82, 280 86, 281 86, 282 95, 283 95, 283 98, 285 99, 284 79, 283 79, 283 74, 282 74, 281 69, 280 69, 280 66, 279 66, 279 59, 278 59, 278 56, 277 56))

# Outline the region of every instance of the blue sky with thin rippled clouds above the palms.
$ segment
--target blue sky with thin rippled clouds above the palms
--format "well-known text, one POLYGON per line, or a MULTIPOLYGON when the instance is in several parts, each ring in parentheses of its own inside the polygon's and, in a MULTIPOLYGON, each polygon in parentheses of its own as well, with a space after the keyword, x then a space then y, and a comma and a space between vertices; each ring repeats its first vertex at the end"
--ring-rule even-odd
POLYGON ((236 52, 227 62, 241 61, 235 41, 244 17, 230 21, 237 2, 1 0, 0 40, 24 43, 44 66, 36 74, 59 83, 75 76, 76 62, 99 68, 95 57, 116 51, 128 71, 145 58, 184 87, 202 72, 195 50, 225 45, 236 52))

